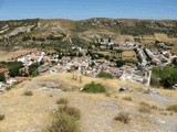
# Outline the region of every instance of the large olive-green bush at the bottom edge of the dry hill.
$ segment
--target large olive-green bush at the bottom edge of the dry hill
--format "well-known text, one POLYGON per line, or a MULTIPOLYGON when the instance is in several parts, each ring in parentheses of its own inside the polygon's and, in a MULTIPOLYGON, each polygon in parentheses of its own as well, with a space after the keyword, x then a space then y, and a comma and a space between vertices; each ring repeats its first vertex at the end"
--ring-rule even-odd
POLYGON ((80 132, 80 110, 74 107, 62 106, 53 114, 53 122, 49 132, 80 132))

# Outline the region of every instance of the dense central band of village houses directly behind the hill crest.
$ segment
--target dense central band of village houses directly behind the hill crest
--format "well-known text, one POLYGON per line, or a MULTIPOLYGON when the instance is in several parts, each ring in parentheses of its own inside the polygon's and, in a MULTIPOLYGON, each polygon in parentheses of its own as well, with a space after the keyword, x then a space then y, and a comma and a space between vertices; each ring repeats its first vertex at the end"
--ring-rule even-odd
POLYGON ((106 72, 121 80, 149 85, 150 70, 138 69, 136 66, 116 67, 116 63, 91 57, 62 57, 58 64, 49 68, 50 73, 77 73, 84 76, 96 77, 100 72, 106 72))

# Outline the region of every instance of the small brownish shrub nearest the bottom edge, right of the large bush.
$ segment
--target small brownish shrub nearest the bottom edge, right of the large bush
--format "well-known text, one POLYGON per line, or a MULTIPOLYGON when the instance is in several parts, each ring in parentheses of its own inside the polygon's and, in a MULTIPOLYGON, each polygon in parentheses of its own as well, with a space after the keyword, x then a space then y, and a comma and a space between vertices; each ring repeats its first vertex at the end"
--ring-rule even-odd
POLYGON ((119 112, 114 120, 121 121, 123 123, 128 123, 131 121, 129 114, 127 112, 119 112))

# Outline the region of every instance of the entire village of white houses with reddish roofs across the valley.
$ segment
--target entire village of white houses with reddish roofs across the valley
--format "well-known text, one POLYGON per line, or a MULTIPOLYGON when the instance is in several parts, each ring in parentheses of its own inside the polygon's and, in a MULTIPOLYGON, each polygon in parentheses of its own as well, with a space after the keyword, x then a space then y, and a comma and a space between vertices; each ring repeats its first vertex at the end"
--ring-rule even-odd
MULTIPOLYGON (((102 45, 112 45, 110 38, 102 40, 102 45)), ((75 48, 75 47, 74 47, 75 48)), ((77 50, 77 47, 76 47, 77 50)), ((59 55, 46 55, 44 52, 38 50, 28 50, 23 53, 18 53, 13 55, 9 61, 18 61, 23 64, 23 70, 28 73, 29 67, 34 63, 41 63, 41 66, 38 68, 40 74, 49 73, 77 73, 84 76, 96 77, 100 72, 106 72, 114 75, 115 78, 121 80, 127 80, 133 82, 139 82, 149 85, 150 84, 150 66, 166 66, 171 64, 174 58, 177 58, 176 55, 173 55, 170 51, 167 50, 149 50, 139 47, 135 42, 126 42, 122 45, 114 46, 113 50, 129 51, 134 50, 137 54, 140 67, 125 65, 123 67, 117 67, 115 62, 110 62, 107 59, 92 59, 91 56, 82 57, 71 57, 63 56, 59 58, 59 55)), ((79 50, 81 51, 81 50, 79 50)), ((13 84, 22 80, 29 80, 30 77, 9 77, 9 69, 0 68, 0 74, 6 75, 6 84, 0 82, 0 91, 13 84)))

